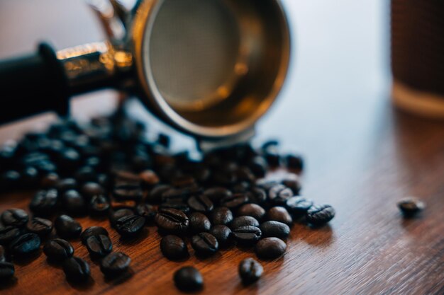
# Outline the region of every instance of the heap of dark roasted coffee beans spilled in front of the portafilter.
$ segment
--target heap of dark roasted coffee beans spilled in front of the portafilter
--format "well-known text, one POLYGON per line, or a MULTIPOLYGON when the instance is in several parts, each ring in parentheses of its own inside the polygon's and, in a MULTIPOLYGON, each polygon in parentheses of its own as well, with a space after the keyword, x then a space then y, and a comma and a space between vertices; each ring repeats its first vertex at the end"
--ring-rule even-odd
MULTIPOLYGON (((80 238, 91 260, 107 277, 128 272, 131 258, 113 252, 106 229, 82 229, 77 216, 105 217, 122 239, 134 239, 148 224, 162 235, 160 250, 169 260, 186 260, 189 245, 206 258, 238 244, 254 248, 262 260, 279 258, 294 222, 322 226, 335 216, 333 207, 301 197, 297 173, 300 156, 279 154, 277 141, 255 149, 237 144, 194 159, 173 153, 170 138, 145 137, 145 126, 123 108, 109 117, 81 125, 60 120, 46 132, 29 132, 0 150, 0 190, 37 190, 30 215, 23 209, 1 213, 0 279, 14 275, 11 257, 43 253, 62 265, 67 279, 90 277, 89 263, 75 256, 70 240, 80 238), (267 173, 282 170, 281 178, 267 173)), ((135 245, 136 247, 137 245, 135 245)), ((12 259, 12 261, 13 261, 12 259)), ((262 276, 259 262, 239 266, 245 284, 262 276)), ((179 289, 200 289, 198 270, 174 274, 179 289)))

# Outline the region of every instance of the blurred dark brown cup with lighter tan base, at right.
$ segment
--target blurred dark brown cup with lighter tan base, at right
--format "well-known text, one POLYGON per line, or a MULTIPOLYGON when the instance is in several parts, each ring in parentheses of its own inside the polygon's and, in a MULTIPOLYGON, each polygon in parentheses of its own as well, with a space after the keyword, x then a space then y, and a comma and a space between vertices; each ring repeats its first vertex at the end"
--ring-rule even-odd
POLYGON ((444 1, 392 0, 392 98, 444 119, 444 1))

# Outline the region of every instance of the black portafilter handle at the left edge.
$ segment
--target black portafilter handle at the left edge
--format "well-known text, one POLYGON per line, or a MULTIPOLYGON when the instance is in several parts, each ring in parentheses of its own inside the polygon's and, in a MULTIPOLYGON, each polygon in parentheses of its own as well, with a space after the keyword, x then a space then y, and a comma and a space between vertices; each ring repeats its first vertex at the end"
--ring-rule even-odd
POLYGON ((69 98, 65 71, 50 45, 0 61, 0 124, 51 110, 67 115, 69 98))

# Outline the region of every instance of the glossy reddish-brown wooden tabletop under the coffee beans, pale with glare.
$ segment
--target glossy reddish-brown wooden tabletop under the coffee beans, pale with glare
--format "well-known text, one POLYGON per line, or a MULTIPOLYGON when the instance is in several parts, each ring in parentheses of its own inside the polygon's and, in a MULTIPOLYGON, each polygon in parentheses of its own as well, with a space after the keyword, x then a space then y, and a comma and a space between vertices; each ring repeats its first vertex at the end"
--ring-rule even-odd
MULTIPOLYGON (((304 195, 333 204, 337 216, 330 226, 293 226, 287 253, 263 262, 265 276, 250 287, 237 274, 238 262, 254 255, 250 251, 170 262, 149 228, 135 243, 121 243, 111 231, 115 249, 133 259, 133 277, 125 282, 106 281, 91 263, 94 282, 71 286, 40 255, 16 265, 16 281, 1 285, 1 294, 178 294, 172 274, 182 265, 201 270, 202 294, 444 294, 444 123, 398 112, 389 103, 387 1, 285 2, 296 28, 296 58, 257 140, 278 138, 283 149, 304 154, 304 195), (406 195, 426 202, 421 216, 401 217, 396 201, 406 195)), ((0 57, 32 50, 40 39, 62 48, 100 38, 82 1, 0 2, 0 57)), ((106 97, 113 96, 79 99, 74 115, 110 110, 113 100, 106 97)), ((51 120, 2 127, 0 140, 51 120)), ((177 146, 189 145, 177 138, 177 146)), ((1 195, 0 211, 26 208, 31 195, 1 195)), ((106 221, 79 221, 108 227, 106 221)), ((89 260, 79 242, 74 246, 89 260)))

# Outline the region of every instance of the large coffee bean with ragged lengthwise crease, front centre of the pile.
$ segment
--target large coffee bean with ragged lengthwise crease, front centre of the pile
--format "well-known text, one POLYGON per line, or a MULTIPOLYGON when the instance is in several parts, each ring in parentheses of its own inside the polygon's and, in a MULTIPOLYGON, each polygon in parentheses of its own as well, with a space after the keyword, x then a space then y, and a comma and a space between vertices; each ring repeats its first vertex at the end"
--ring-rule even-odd
POLYGON ((155 216, 157 227, 169 233, 183 233, 187 231, 189 219, 184 212, 176 209, 159 209, 155 216))

